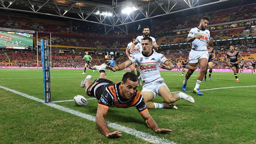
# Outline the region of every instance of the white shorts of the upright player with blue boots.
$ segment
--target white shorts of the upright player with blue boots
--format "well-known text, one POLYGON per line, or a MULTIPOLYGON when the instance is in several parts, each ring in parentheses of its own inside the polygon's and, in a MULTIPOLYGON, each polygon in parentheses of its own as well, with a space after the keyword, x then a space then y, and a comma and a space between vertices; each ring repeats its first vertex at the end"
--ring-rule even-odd
POLYGON ((208 51, 197 51, 197 50, 191 50, 189 53, 189 63, 198 63, 199 59, 202 58, 209 58, 208 51))

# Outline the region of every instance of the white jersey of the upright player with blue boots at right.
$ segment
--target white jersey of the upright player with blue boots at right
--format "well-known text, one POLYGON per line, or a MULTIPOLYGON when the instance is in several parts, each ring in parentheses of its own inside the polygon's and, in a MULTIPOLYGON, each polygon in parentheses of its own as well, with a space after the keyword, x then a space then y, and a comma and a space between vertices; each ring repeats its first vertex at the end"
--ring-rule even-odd
POLYGON ((197 27, 195 27, 189 31, 189 34, 187 35, 187 37, 195 37, 197 35, 200 35, 201 38, 200 40, 195 39, 192 42, 192 50, 206 51, 207 50, 206 44, 208 41, 210 41, 210 31, 200 30, 197 27))

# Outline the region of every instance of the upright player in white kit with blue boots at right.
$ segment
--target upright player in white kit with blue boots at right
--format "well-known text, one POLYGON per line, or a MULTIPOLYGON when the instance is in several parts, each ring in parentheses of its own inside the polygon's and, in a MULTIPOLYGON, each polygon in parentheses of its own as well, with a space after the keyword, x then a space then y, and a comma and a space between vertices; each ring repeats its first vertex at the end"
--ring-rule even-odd
POLYGON ((213 42, 213 38, 210 37, 210 31, 206 30, 209 21, 210 19, 208 17, 202 17, 199 26, 192 28, 187 36, 187 42, 192 42, 192 49, 189 53, 189 70, 186 73, 182 85, 182 90, 186 91, 187 80, 195 71, 197 63, 199 63, 200 73, 197 77, 197 83, 193 92, 197 93, 200 96, 202 96, 203 93, 200 92, 199 86, 204 78, 204 73, 206 72, 209 58, 206 44, 211 46, 213 42))

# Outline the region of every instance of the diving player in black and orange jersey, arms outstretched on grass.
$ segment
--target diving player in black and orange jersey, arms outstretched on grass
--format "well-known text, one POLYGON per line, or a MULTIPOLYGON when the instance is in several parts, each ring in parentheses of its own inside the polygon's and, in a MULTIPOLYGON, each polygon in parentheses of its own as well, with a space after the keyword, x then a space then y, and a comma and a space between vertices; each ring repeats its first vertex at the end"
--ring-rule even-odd
POLYGON ((111 132, 104 120, 109 107, 136 107, 147 126, 156 133, 172 132, 171 129, 160 129, 156 122, 148 113, 145 101, 141 93, 137 90, 139 84, 138 77, 132 72, 126 72, 120 83, 113 83, 106 78, 106 64, 93 66, 100 72, 100 78, 91 82, 92 76, 87 76, 82 82, 81 87, 85 87, 88 96, 93 96, 98 102, 96 113, 96 124, 100 132, 106 137, 121 137, 119 131, 111 132))

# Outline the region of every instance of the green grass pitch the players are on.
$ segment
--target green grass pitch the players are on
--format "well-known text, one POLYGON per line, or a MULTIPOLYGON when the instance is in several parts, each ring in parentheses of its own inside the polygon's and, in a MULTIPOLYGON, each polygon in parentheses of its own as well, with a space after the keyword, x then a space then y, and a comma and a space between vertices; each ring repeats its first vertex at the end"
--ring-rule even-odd
MULTIPOLYGON (((75 95, 85 96, 80 82, 87 74, 98 78, 98 72, 86 70, 51 70, 52 101, 72 100, 75 95)), ((107 70, 108 72, 108 70, 107 70)), ((107 73, 108 79, 119 82, 126 71, 107 73)), ((162 71, 171 91, 180 91, 184 76, 179 72, 162 71)), ((110 108, 106 116, 109 122, 142 131, 170 142, 181 144, 255 144, 256 143, 256 74, 234 74, 213 72, 210 81, 202 82, 204 96, 193 90, 198 72, 188 81, 187 94, 195 103, 179 100, 178 109, 150 109, 158 126, 172 129, 173 133, 157 134, 145 125, 135 107, 129 109, 110 108), (242 87, 255 86, 255 87, 242 87), (214 89, 235 87, 226 89, 214 89)), ((0 69, 0 86, 44 100, 43 74, 41 69, 0 69)), ((141 87, 138 88, 141 90, 141 87)), ((85 98, 91 98, 85 96, 85 98)), ((122 137, 109 139, 97 129, 95 122, 60 111, 40 102, 0 88, 0 143, 150 143, 134 135, 122 132, 122 137)), ((74 102, 57 105, 95 116, 96 100, 87 100, 86 107, 77 107, 74 102)), ((160 96, 154 102, 161 103, 160 96)), ((111 131, 117 129, 110 128, 111 131)), ((135 134, 136 135, 136 134, 135 134)))

